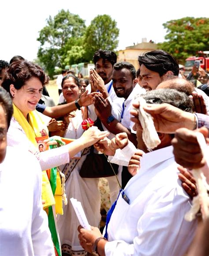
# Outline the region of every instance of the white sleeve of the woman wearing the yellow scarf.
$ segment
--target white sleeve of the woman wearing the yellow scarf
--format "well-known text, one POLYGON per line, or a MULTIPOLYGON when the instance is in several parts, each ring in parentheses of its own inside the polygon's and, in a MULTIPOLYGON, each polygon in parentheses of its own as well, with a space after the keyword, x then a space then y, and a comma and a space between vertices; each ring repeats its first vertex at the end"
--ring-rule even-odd
POLYGON ((11 147, 17 146, 20 151, 28 149, 31 153, 36 155, 42 171, 69 162, 69 153, 66 146, 39 153, 37 148, 35 148, 26 137, 24 130, 14 117, 11 118, 11 123, 7 132, 7 145, 11 147))

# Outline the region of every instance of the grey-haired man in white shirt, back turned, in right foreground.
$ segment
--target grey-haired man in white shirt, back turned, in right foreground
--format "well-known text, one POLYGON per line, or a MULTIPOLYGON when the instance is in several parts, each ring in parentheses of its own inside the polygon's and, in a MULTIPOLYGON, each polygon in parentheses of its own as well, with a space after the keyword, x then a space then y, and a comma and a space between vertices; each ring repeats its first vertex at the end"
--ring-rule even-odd
MULTIPOLYGON (((192 112, 188 96, 173 89, 151 91, 142 97, 147 103, 157 104, 172 99, 176 107, 192 112)), ((160 145, 148 153, 141 126, 135 129, 138 146, 145 154, 140 171, 108 213, 104 234, 107 240, 97 228, 89 231, 79 226, 80 243, 100 256, 183 255, 193 240, 196 222, 184 220, 191 205, 178 179, 171 146, 173 135, 158 134, 160 145)))

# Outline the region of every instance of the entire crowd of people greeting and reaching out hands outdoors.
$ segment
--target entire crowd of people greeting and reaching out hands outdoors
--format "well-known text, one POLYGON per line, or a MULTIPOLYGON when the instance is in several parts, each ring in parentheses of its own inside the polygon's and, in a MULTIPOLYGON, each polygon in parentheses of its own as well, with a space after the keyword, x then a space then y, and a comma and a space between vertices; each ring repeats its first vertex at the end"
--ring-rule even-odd
POLYGON ((208 195, 204 211, 200 197, 185 219, 200 193, 192 169, 209 190, 197 138, 209 143, 207 74, 182 77, 163 50, 139 56, 137 71, 109 50, 93 62, 88 79, 63 70, 56 106, 41 67, 21 56, 0 61, 0 255, 208 255, 208 195))

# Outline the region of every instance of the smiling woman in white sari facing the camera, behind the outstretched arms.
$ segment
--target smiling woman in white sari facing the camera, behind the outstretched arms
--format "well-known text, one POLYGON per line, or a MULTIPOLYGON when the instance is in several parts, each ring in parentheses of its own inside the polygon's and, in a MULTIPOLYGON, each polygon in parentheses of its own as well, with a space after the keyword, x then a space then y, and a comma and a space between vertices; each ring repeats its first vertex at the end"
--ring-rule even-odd
MULTIPOLYGON (((79 81, 76 76, 69 75, 62 82, 63 96, 67 103, 78 99, 79 96, 79 81)), ((78 139, 82 136, 82 121, 87 118, 85 115, 86 109, 75 111, 75 117, 70 118, 67 130, 64 132, 64 138, 78 139)), ((86 255, 86 251, 80 246, 78 240, 78 218, 71 205, 70 199, 73 197, 81 202, 87 220, 90 225, 98 226, 100 222, 100 191, 98 189, 99 179, 87 178, 84 179, 79 175, 79 170, 82 167, 83 161, 86 159, 86 150, 82 151, 82 157, 78 160, 75 168, 67 178, 65 183, 65 192, 68 199, 68 204, 63 206, 63 215, 57 218, 57 225, 60 234, 60 242, 62 252, 69 255, 86 255), (85 152, 85 153, 84 153, 85 152)), ((73 160, 72 160, 73 161, 73 160)), ((61 166, 63 170, 65 165, 61 166)))

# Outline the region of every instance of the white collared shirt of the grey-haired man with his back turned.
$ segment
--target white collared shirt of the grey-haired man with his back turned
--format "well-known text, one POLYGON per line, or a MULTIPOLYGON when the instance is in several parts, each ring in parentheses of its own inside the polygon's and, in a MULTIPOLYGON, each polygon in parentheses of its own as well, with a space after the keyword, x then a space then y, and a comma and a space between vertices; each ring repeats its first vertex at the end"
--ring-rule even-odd
POLYGON ((130 204, 119 195, 112 213, 106 256, 185 253, 193 240, 196 222, 184 220, 191 205, 177 173, 172 146, 142 157, 140 171, 124 189, 130 204))

